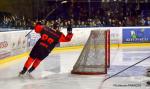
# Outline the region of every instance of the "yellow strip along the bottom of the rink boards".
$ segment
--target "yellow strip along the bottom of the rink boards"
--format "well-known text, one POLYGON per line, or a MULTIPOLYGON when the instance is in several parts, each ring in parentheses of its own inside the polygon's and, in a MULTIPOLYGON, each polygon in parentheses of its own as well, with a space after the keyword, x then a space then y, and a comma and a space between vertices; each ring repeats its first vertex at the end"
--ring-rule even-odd
MULTIPOLYGON (((138 48, 143 48, 143 47, 150 47, 149 43, 142 43, 142 44, 112 44, 111 48, 120 48, 120 47, 138 47, 138 48)), ((52 54, 54 53, 60 53, 60 52, 66 52, 66 51, 78 51, 78 50, 82 50, 83 46, 71 46, 71 47, 57 47, 52 51, 52 54)), ((0 65, 13 61, 13 60, 17 60, 17 59, 21 59, 23 57, 26 57, 29 55, 29 52, 25 52, 23 54, 19 54, 16 56, 11 56, 11 57, 7 57, 5 59, 1 59, 0 60, 0 65)))

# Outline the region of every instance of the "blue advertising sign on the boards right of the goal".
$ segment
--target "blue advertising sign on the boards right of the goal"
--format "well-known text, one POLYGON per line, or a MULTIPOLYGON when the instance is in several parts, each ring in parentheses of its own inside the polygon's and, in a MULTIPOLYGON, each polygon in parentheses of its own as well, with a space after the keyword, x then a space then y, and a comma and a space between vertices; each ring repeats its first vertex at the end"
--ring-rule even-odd
POLYGON ((123 43, 150 42, 150 28, 123 28, 123 43))

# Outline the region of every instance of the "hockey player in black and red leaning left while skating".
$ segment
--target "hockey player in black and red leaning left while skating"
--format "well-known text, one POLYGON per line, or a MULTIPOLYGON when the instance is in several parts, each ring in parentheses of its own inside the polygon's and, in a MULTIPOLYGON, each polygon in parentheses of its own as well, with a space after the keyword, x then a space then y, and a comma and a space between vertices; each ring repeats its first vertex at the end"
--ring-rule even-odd
POLYGON ((66 36, 60 32, 58 23, 54 23, 52 28, 37 23, 34 29, 36 33, 41 35, 41 38, 32 48, 19 76, 23 76, 26 72, 30 75, 30 73, 38 67, 41 61, 49 55, 57 43, 69 42, 73 36, 70 22, 68 23, 66 36))

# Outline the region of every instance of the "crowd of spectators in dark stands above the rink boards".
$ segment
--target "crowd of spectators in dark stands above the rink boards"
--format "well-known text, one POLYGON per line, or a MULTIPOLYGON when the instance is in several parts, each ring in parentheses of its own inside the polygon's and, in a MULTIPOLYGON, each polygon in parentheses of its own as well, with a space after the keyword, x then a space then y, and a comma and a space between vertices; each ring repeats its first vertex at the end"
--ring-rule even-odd
MULTIPOLYGON (((95 4, 93 6, 95 7, 89 8, 89 5, 77 3, 71 8, 73 9, 71 19, 61 17, 57 18, 57 21, 60 22, 61 27, 65 27, 68 20, 72 21, 73 27, 150 26, 150 8, 146 8, 148 15, 144 16, 142 13, 145 8, 139 7, 137 4, 110 3, 108 7, 96 6, 95 4)), ((1 28, 31 29, 36 21, 36 19, 31 20, 25 16, 0 15, 1 28)), ((43 20, 40 21, 44 22, 43 20)), ((55 21, 56 19, 48 19, 44 23, 51 26, 55 21)))

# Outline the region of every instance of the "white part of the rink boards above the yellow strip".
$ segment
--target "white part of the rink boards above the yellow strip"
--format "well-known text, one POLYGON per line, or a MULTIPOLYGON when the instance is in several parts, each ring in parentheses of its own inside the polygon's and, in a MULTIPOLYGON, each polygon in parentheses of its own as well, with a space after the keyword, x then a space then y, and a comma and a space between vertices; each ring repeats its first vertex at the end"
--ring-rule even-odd
MULTIPOLYGON (((91 27, 91 28, 73 28, 74 36, 71 42, 60 43, 61 47, 64 46, 76 46, 76 45, 84 45, 87 41, 90 31, 99 29, 99 30, 110 30, 110 42, 111 44, 122 44, 123 39, 123 29, 145 29, 150 27, 91 27)), ((5 30, 0 28, 1 31, 5 30)), ((15 29, 14 29, 15 30, 15 29)), ((16 29, 17 30, 17 29, 16 29)), ((8 31, 8 32, 0 32, 0 59, 1 55, 4 54, 12 54, 12 52, 17 50, 27 51, 28 48, 32 48, 36 41, 39 39, 40 35, 32 31, 30 35, 25 37, 25 35, 30 30, 22 30, 22 31, 8 31)), ((67 29, 62 28, 62 32, 66 34, 67 29)), ((150 33, 150 31, 149 31, 150 33)), ((150 38, 149 38, 150 39, 150 38)))

